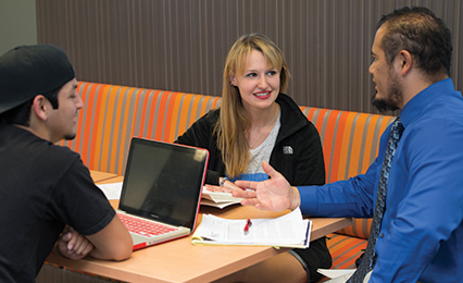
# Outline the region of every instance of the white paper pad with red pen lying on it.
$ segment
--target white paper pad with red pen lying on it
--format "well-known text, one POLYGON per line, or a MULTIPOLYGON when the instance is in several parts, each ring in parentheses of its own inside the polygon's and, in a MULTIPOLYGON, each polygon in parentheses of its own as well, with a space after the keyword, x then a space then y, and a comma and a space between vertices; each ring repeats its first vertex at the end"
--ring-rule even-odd
POLYGON ((309 247, 312 222, 303 219, 300 209, 277 219, 229 220, 211 214, 202 221, 191 237, 195 245, 250 245, 275 247, 309 247))

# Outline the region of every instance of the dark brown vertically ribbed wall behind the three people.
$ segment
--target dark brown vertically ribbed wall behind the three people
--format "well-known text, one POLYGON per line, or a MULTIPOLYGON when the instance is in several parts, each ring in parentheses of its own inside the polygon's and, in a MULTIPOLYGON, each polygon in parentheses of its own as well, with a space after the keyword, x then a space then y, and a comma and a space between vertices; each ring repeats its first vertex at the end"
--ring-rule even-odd
POLYGON ((38 41, 62 47, 80 81, 221 95, 226 53, 259 32, 284 51, 299 104, 375 113, 371 46, 380 15, 425 5, 453 35, 463 85, 461 0, 37 0, 38 41))

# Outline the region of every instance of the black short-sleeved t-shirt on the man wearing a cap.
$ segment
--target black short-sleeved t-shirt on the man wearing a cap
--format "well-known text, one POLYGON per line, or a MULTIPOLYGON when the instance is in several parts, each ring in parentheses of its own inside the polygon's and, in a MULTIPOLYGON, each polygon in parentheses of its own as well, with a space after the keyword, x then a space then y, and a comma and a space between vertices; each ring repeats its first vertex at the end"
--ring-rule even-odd
POLYGON ((91 235, 114 214, 76 152, 0 124, 0 282, 35 282, 65 224, 91 235))

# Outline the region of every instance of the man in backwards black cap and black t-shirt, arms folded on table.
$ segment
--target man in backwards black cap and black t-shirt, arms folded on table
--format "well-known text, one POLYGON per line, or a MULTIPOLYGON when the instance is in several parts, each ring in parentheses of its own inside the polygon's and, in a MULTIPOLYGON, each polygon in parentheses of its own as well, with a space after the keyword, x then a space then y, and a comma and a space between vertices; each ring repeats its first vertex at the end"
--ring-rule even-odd
POLYGON ((128 232, 79 156, 54 145, 75 137, 76 88, 55 46, 0 57, 0 282, 35 282, 54 245, 71 259, 130 257, 128 232))

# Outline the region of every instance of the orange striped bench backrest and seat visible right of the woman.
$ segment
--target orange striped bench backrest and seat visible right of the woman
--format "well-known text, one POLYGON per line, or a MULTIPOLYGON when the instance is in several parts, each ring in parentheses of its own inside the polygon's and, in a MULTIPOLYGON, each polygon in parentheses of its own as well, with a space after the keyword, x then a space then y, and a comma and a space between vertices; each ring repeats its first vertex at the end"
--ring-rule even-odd
MULTIPOLYGON (((323 144, 326 182, 364 173, 376 158, 379 137, 393 116, 301 107, 318 130, 323 144)), ((366 247, 372 219, 353 219, 352 225, 328 235, 333 268, 354 268, 366 247)))

